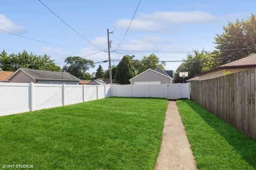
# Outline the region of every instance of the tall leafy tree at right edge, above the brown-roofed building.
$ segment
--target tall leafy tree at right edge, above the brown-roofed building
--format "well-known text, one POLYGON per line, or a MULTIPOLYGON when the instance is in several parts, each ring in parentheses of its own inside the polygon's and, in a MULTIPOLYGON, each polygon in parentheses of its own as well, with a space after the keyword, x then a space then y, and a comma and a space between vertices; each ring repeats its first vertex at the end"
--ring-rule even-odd
MULTIPOLYGON (((221 59, 219 65, 233 62, 256 52, 256 48, 240 50, 237 48, 253 47, 256 43, 256 16, 252 14, 246 20, 228 22, 221 35, 216 35, 215 44, 221 50, 215 58, 221 59), (237 49, 237 50, 226 50, 237 49)), ((254 46, 255 47, 255 46, 254 46)))

